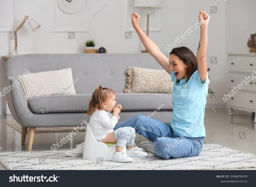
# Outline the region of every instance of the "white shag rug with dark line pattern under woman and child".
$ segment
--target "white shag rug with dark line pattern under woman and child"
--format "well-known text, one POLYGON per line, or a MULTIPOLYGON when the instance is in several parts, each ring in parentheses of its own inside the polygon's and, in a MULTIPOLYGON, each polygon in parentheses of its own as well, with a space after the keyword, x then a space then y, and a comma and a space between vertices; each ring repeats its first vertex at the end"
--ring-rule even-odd
POLYGON ((203 170, 256 167, 256 156, 218 144, 205 144, 196 157, 160 159, 155 155, 133 158, 131 163, 82 160, 63 154, 63 150, 0 153, 0 163, 10 170, 203 170))

